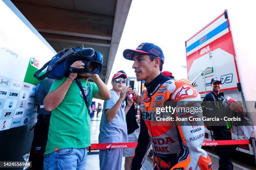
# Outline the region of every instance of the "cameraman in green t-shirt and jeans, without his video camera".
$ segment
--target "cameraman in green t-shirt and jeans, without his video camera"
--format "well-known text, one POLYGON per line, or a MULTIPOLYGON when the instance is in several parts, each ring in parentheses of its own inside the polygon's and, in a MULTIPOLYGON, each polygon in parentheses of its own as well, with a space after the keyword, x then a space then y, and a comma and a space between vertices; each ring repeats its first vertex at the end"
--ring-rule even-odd
MULTIPOLYGON (((82 61, 74 62, 71 67, 83 69, 82 61)), ((80 74, 84 95, 90 106, 92 98, 110 99, 110 91, 99 75, 80 74), (94 82, 88 82, 91 77, 94 82)), ((44 170, 48 169, 86 169, 87 147, 90 143, 90 115, 82 92, 73 82, 77 73, 55 80, 49 94, 44 99, 44 108, 51 111, 51 120, 44 153, 44 170)))

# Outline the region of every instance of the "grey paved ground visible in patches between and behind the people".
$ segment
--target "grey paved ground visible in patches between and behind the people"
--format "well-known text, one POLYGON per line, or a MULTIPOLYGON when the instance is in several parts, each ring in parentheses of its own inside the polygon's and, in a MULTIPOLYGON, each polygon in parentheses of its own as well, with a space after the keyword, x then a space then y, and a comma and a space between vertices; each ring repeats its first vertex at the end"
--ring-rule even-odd
MULTIPOLYGON (((100 133, 100 118, 101 117, 92 117, 91 118, 91 143, 98 143, 98 135, 100 133)), ((139 134, 139 129, 136 130, 136 134, 139 134)), ((209 149, 206 149, 208 155, 210 156, 210 158, 212 159, 212 170, 218 170, 219 167, 219 163, 218 163, 218 155, 211 150, 211 148, 209 147, 209 149)), ((88 155, 87 157, 87 170, 100 170, 100 161, 99 161, 99 155, 98 155, 98 150, 94 150, 92 151, 91 155, 88 155)), ((238 156, 236 155, 236 157, 240 157, 239 153, 238 156)), ((122 170, 124 170, 124 160, 125 158, 123 157, 123 168, 122 170)), ((250 157, 250 159, 243 158, 242 159, 242 155, 241 155, 241 159, 237 158, 237 159, 233 159, 232 163, 234 165, 234 169, 233 170, 256 170, 256 167, 253 165, 248 165, 247 161, 253 161, 250 157), (242 162, 241 162, 242 161, 242 162)), ((152 162, 153 159, 152 158, 148 158, 146 159, 145 163, 143 164, 141 170, 153 170, 152 167, 152 162)))

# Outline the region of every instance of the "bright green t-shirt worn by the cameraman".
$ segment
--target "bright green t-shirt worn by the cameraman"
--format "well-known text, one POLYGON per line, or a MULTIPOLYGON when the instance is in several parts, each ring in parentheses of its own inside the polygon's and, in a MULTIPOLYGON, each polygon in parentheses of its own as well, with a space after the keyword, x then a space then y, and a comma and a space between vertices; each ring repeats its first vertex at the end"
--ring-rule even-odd
MULTIPOLYGON (((50 91, 58 88, 66 78, 55 80, 50 91)), ((99 91, 94 82, 81 79, 84 94, 88 104, 99 91)), ((84 103, 82 93, 75 82, 69 87, 66 96, 59 106, 51 112, 48 141, 45 155, 55 151, 55 148, 86 148, 90 142, 90 115, 84 103)))

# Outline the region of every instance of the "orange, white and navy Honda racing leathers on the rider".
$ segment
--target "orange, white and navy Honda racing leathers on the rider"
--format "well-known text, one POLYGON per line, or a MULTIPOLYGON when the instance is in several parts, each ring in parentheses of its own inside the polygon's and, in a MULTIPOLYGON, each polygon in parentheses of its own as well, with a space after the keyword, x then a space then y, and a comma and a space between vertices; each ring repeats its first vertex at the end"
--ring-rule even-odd
MULTIPOLYGON (((211 170, 212 161, 201 149, 204 139, 204 126, 191 121, 191 125, 183 126, 179 121, 161 121, 160 117, 189 117, 190 113, 162 112, 156 114, 157 107, 164 107, 168 102, 175 106, 193 107, 193 102, 200 101, 200 94, 184 80, 171 80, 161 73, 141 93, 141 131, 138 145, 133 157, 131 170, 139 170, 145 154, 152 145, 156 165, 154 170, 211 170), (183 101, 183 102, 182 102, 183 101), (189 106, 184 101, 190 102, 189 106), (180 103, 179 103, 180 102, 180 103), (183 104, 181 104, 183 103, 183 104), (174 122, 174 123, 173 123, 174 122)), ((194 117, 201 117, 202 112, 194 117)))

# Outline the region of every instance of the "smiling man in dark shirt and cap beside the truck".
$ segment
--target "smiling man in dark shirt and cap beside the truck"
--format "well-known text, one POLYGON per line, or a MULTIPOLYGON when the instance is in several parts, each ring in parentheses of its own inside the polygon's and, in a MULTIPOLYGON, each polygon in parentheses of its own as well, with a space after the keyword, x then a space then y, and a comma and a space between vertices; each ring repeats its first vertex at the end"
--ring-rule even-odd
MULTIPOLYGON (((212 91, 207 93, 203 99, 204 115, 206 117, 223 117, 232 114, 235 110, 235 105, 230 104, 229 108, 223 107, 223 100, 225 98, 220 95, 221 80, 217 77, 211 80, 212 91), (231 111, 230 111, 231 110, 231 111)), ((229 117, 229 116, 228 116, 229 117)), ((209 123, 209 122, 208 122, 209 123)), ((216 125, 212 125, 211 129, 215 140, 232 140, 230 132, 229 122, 215 122, 216 125), (223 124, 226 123, 226 126, 223 124)), ((207 124, 210 125, 210 124, 207 124)), ((231 162, 231 152, 235 148, 230 145, 217 146, 217 153, 219 156, 219 170, 233 170, 233 164, 231 162)))

